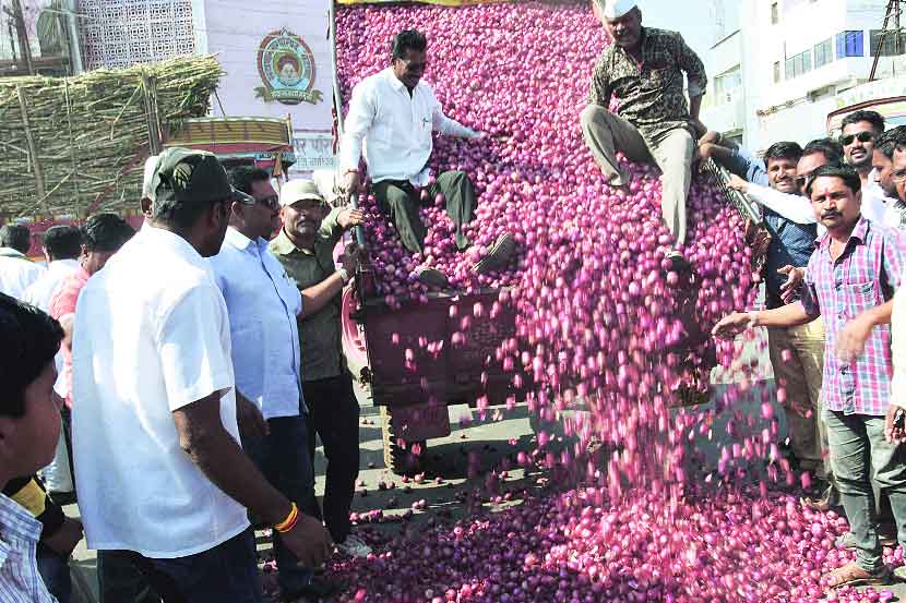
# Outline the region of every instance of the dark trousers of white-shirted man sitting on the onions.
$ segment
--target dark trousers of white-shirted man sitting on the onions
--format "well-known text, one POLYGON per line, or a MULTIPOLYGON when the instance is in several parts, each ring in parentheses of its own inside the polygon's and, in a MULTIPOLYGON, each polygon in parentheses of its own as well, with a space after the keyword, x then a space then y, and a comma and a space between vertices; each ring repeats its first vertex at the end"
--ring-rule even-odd
MULTIPOLYGON (((412 182, 404 180, 382 180, 372 186, 374 198, 381 212, 390 216, 400 240, 413 253, 425 251, 425 234, 428 229, 421 222, 418 209, 421 200, 412 182)), ((475 186, 462 171, 445 171, 438 176, 437 182, 427 189, 429 203, 442 194, 446 202, 446 215, 456 225, 456 246, 460 251, 468 246, 462 233, 462 227, 468 224, 475 214, 475 186)))

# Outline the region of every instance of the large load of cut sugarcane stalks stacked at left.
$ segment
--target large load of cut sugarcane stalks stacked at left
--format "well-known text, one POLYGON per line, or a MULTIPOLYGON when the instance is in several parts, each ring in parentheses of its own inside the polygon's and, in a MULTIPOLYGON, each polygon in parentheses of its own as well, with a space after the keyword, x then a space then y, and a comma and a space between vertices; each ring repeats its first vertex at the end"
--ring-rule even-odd
POLYGON ((135 208, 141 164, 163 125, 205 116, 220 75, 214 57, 186 57, 74 77, 0 77, 0 216, 135 208))

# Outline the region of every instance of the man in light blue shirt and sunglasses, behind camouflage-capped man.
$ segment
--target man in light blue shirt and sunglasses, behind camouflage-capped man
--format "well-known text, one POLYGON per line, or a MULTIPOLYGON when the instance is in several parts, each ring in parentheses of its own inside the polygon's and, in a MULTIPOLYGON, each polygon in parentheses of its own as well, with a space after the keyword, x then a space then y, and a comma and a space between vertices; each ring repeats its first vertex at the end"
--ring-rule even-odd
MULTIPOLYGON (((302 298, 267 252, 279 213, 278 196, 262 169, 236 168, 230 181, 257 203, 234 203, 224 244, 208 262, 229 314, 242 447, 274 487, 298 501, 306 515, 320 517, 299 372, 296 316, 302 311, 302 298)), ((329 594, 332 587, 313 578, 276 530, 273 534, 284 600, 329 594)))

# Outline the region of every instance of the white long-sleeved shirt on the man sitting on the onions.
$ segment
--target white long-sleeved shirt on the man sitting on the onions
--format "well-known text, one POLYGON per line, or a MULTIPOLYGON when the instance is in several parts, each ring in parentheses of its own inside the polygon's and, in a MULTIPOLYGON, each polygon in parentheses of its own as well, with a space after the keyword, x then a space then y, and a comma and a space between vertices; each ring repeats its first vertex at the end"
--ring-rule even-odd
POLYGON ((434 130, 461 138, 479 135, 443 114, 428 83, 420 81, 409 95, 391 68, 356 84, 344 125, 341 174, 358 168, 363 145, 372 182, 408 180, 417 186, 428 184, 434 130))

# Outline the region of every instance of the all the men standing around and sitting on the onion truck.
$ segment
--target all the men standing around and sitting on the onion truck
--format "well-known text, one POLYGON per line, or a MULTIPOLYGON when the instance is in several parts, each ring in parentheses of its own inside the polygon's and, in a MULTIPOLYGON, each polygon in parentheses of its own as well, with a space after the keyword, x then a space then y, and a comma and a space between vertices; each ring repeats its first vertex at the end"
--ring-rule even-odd
MULTIPOLYGON (((679 34, 643 27, 633 0, 593 8, 613 43, 579 118, 594 160, 618 190, 618 154, 660 168, 673 270, 690 267, 698 161, 724 165, 761 204, 765 309, 725 317, 714 335, 767 327, 789 459, 820 484, 802 503, 842 505, 851 527, 839 545, 856 560, 828 584, 890 580, 882 547, 906 544, 906 128, 857 111, 839 140, 778 142, 756 158, 699 120, 707 77, 679 34)), ((468 249, 475 190, 462 172, 431 173, 432 133, 487 136, 443 114, 427 63, 425 35, 404 31, 390 67, 355 87, 335 185, 277 192, 266 171, 228 174, 208 153, 172 148, 145 165, 138 232, 112 214, 53 227, 40 265, 26 257, 27 228, 0 230, 0 601, 67 603, 83 529, 107 603, 260 602, 253 526, 273 528, 286 601, 330 594, 317 569, 334 546, 370 554, 349 521, 359 408, 339 325, 361 256, 348 245, 338 268, 333 257, 365 216, 325 195, 351 197, 367 169, 418 254, 419 207, 441 194, 468 249), (81 520, 61 511, 71 499, 81 520)), ((473 270, 514 252, 503 234, 473 270)), ((414 276, 449 286, 429 264, 414 276)))

